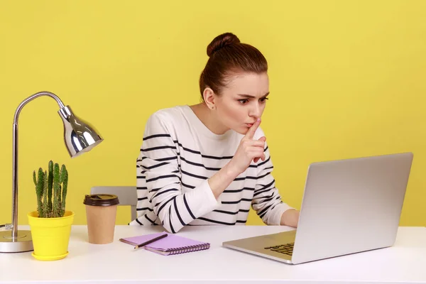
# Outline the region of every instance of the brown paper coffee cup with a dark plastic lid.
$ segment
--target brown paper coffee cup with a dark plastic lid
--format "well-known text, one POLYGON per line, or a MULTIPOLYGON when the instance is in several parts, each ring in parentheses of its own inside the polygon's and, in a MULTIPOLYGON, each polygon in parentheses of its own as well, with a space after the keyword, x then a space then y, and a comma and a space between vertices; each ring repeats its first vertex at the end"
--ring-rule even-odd
POLYGON ((114 241, 117 205, 116 195, 86 195, 87 233, 91 244, 109 244, 114 241))

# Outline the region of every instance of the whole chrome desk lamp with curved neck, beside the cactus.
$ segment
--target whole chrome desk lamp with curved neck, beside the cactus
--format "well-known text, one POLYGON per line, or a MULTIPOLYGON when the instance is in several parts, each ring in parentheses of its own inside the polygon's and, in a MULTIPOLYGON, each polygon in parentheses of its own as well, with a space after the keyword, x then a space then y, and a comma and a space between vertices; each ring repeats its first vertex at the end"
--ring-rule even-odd
POLYGON ((21 109, 38 97, 48 96, 58 103, 58 114, 64 123, 64 139, 71 158, 90 151, 103 139, 92 126, 75 116, 58 96, 51 92, 38 92, 19 104, 13 119, 13 160, 12 160, 12 224, 6 224, 6 231, 0 231, 0 253, 33 251, 31 231, 18 230, 18 117, 21 109))

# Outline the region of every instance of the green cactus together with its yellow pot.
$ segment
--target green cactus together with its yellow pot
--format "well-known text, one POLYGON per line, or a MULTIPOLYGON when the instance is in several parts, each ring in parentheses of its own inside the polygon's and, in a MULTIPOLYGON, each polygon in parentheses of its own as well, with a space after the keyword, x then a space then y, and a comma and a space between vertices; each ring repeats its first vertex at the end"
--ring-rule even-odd
POLYGON ((65 210, 68 171, 50 160, 48 170, 33 172, 37 211, 28 213, 33 238, 33 256, 43 261, 65 258, 68 254, 74 212, 65 210))

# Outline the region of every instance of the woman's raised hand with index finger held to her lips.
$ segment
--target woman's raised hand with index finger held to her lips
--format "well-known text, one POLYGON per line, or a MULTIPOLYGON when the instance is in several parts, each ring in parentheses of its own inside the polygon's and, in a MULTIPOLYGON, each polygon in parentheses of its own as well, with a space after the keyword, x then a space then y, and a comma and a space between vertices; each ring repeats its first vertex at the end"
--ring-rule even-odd
POLYGON ((257 163, 259 159, 265 160, 265 153, 263 153, 263 151, 266 137, 262 136, 258 140, 253 140, 254 133, 260 124, 261 119, 257 119, 250 127, 249 131, 247 131, 246 135, 241 139, 234 157, 229 162, 231 168, 236 170, 238 174, 243 173, 244 170, 249 168, 252 160, 254 163, 257 163))

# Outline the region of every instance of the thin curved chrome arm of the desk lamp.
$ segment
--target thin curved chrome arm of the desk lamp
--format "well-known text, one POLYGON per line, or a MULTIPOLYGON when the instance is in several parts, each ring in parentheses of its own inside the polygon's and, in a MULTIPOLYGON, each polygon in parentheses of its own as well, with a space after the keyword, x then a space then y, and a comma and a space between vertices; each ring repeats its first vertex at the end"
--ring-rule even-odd
POLYGON ((48 96, 58 103, 60 109, 64 104, 59 97, 51 92, 38 92, 24 99, 15 111, 13 117, 13 159, 12 159, 12 241, 16 241, 18 237, 18 118, 22 108, 38 97, 48 96))

